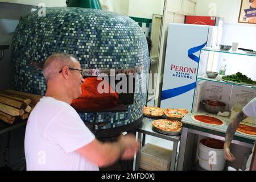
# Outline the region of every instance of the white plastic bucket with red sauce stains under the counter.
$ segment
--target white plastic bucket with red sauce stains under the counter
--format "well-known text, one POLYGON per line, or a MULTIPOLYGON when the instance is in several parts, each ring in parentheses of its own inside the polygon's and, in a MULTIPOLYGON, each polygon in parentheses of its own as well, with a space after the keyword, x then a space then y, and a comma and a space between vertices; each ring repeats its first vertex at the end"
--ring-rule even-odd
POLYGON ((197 150, 199 166, 208 171, 222 171, 225 166, 224 142, 217 139, 201 139, 197 150))

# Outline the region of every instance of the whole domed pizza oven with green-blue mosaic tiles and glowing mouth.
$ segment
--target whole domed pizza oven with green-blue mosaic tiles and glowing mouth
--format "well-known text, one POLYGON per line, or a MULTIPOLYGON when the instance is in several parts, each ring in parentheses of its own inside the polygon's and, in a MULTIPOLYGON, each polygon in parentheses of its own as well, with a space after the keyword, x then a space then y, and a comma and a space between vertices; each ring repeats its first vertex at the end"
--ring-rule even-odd
POLYGON ((39 65, 57 52, 75 56, 84 69, 82 96, 72 106, 96 136, 109 137, 141 123, 148 49, 138 23, 79 7, 47 8, 46 16, 38 11, 28 14, 20 20, 12 43, 15 89, 44 95, 46 82, 39 65), (125 81, 118 80, 118 74, 125 81), (98 92, 100 83, 108 92, 98 92))

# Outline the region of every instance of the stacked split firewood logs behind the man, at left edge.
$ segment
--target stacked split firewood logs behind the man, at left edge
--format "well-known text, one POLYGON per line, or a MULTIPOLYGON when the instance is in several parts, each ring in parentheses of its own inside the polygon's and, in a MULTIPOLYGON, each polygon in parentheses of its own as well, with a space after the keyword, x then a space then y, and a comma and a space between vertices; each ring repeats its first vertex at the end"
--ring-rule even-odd
POLYGON ((13 124, 18 118, 27 119, 42 97, 10 89, 0 92, 0 120, 13 124))

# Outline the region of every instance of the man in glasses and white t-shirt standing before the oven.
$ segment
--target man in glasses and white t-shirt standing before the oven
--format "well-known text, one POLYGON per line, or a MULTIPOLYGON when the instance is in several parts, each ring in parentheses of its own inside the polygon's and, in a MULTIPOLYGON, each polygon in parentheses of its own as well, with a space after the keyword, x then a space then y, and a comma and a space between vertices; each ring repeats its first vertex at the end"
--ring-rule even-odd
POLYGON ((98 170, 118 159, 133 159, 139 148, 134 135, 102 143, 70 105, 82 94, 80 63, 60 53, 44 63, 46 96, 28 118, 24 141, 27 170, 98 170))

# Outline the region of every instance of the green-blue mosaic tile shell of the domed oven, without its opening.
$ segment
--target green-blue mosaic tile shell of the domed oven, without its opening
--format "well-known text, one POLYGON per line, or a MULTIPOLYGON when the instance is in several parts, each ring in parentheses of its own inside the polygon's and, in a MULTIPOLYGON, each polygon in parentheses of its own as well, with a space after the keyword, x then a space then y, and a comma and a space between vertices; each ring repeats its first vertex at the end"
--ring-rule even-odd
MULTIPOLYGON (((46 92, 43 72, 28 62, 44 63, 56 52, 76 56, 81 68, 148 71, 147 42, 141 27, 127 16, 104 10, 52 7, 46 9, 46 17, 34 11, 20 20, 12 52, 15 89, 40 95, 46 92)), ((141 77, 138 85, 145 89, 146 77, 141 77)), ((80 116, 84 121, 96 123, 96 131, 120 128, 138 121, 145 103, 146 94, 141 91, 134 94, 134 104, 127 106, 128 111, 80 113, 80 116), (105 125, 97 125, 101 122, 105 125)))

